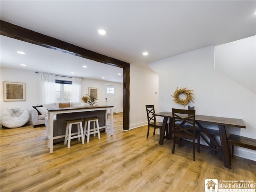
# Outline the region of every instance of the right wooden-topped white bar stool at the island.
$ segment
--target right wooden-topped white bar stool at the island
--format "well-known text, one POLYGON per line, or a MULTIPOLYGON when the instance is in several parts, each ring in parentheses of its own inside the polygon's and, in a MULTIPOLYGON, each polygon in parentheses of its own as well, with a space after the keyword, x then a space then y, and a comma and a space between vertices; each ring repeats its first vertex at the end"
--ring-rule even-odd
POLYGON ((85 118, 85 124, 84 124, 84 138, 87 136, 87 143, 90 140, 90 135, 93 134, 96 136, 96 133, 98 134, 98 139, 100 139, 100 128, 99 128, 99 117, 90 117, 90 118, 85 118), (90 129, 90 123, 93 122, 93 129, 90 129), (96 127, 95 127, 95 122, 96 122, 96 127), (86 130, 87 128, 87 130, 86 130), (97 128, 97 130, 96 130, 97 128))

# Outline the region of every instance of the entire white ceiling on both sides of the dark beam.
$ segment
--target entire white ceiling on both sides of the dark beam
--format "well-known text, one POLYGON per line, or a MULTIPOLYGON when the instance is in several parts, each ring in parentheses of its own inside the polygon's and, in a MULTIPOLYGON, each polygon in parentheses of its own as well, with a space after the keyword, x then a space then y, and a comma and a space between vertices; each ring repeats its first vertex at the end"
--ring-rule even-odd
MULTIPOLYGON (((256 35, 254 0, 1 0, 0 6, 1 20, 146 69, 156 60, 256 35)), ((1 66, 21 68, 21 62, 28 70, 122 82, 121 68, 1 36, 1 66)))

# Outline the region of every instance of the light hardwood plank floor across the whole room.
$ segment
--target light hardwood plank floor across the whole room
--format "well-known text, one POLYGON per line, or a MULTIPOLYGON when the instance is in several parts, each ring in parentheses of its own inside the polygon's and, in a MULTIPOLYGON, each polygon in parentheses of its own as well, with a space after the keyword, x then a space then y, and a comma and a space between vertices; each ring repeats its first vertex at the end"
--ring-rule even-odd
POLYGON ((204 192, 205 179, 254 180, 256 162, 234 156, 224 168, 221 154, 202 148, 193 161, 192 145, 172 154, 172 140, 158 144, 147 126, 122 130, 122 113, 114 114, 114 134, 71 141, 47 149, 45 127, 0 130, 1 192, 204 192))

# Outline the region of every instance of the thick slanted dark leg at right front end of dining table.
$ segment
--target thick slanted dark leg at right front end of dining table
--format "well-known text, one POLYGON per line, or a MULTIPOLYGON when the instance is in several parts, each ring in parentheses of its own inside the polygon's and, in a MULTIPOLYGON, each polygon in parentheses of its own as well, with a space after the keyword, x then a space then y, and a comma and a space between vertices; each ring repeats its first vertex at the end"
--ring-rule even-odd
POLYGON ((228 140, 227 140, 227 134, 226 134, 226 128, 223 125, 218 125, 219 132, 220 132, 220 143, 222 147, 222 154, 223 154, 223 161, 224 166, 226 168, 231 169, 231 163, 230 163, 230 153, 228 150, 228 140))

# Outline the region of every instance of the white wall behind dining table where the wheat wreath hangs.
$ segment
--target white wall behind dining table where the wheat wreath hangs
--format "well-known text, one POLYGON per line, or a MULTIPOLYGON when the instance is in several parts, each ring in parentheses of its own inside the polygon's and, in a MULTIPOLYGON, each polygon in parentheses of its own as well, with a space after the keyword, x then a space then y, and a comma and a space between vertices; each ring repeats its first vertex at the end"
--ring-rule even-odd
MULTIPOLYGON (((246 129, 227 127, 230 133, 256 139, 255 93, 214 70, 214 46, 194 50, 148 64, 159 76, 159 111, 183 108, 171 96, 176 88, 193 90, 196 114, 240 118, 246 129)), ((187 106, 185 108, 188 108, 187 106)), ((205 124, 216 128, 215 125, 205 124)), ((254 150, 235 147, 235 155, 256 160, 254 150)))

